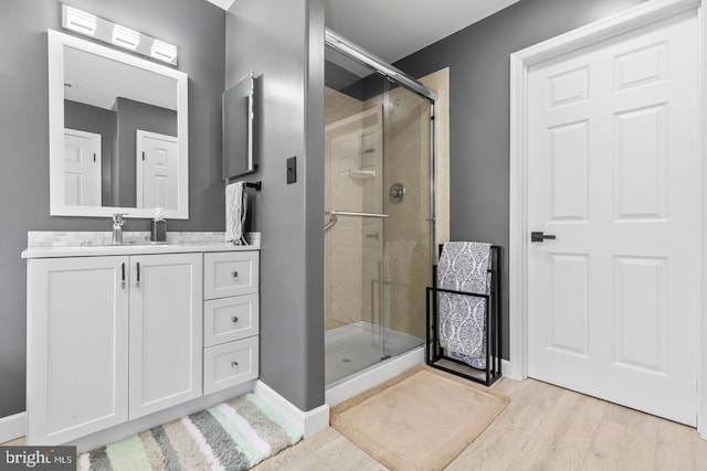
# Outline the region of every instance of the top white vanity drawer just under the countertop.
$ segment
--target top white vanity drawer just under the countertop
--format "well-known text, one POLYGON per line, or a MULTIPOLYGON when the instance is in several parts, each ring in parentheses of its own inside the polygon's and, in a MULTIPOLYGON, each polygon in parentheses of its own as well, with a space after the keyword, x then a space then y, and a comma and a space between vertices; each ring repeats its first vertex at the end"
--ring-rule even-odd
POLYGON ((203 257, 204 299, 257 292, 257 251, 219 251, 203 257))

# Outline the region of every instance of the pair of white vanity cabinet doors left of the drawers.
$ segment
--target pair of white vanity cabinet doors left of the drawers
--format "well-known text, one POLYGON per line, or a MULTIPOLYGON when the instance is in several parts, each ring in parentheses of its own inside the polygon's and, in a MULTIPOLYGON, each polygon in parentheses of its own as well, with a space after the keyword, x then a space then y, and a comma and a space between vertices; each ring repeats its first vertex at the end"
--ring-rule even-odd
POLYGON ((56 445, 202 393, 202 254, 28 261, 28 442, 56 445))

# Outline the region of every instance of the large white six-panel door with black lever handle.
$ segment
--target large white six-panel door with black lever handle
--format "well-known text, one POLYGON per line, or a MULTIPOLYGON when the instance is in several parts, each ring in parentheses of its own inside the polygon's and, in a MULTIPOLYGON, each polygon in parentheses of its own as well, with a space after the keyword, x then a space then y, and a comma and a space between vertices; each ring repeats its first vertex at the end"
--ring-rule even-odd
POLYGON ((694 15, 530 69, 528 374, 696 424, 694 15))

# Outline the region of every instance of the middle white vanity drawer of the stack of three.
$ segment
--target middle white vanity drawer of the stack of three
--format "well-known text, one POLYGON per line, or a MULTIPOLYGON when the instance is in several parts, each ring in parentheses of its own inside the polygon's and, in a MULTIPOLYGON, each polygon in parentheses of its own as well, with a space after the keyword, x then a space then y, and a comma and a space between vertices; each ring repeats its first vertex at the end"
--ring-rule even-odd
POLYGON ((203 344, 219 345, 258 332, 257 295, 212 299, 203 303, 203 344))

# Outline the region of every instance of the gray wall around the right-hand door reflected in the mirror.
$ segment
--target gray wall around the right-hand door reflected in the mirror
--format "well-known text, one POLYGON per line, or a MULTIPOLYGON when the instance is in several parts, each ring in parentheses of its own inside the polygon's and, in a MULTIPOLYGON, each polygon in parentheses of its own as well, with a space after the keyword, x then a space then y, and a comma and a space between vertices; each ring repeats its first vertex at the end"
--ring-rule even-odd
POLYGON ((114 162, 114 189, 116 206, 137 207, 137 161, 135 149, 138 129, 177 136, 177 111, 118 97, 115 100, 117 114, 116 160, 114 162))

